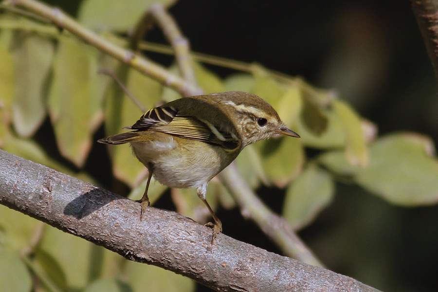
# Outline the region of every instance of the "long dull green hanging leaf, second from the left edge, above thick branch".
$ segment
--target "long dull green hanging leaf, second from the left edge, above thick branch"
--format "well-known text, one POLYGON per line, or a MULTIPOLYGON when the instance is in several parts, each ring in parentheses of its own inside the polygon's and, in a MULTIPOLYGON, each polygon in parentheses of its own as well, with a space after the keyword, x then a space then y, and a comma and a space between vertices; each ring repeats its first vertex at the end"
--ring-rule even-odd
POLYGON ((15 34, 12 55, 16 76, 14 126, 23 137, 33 135, 46 115, 45 82, 52 66, 54 43, 45 37, 19 31, 15 34))

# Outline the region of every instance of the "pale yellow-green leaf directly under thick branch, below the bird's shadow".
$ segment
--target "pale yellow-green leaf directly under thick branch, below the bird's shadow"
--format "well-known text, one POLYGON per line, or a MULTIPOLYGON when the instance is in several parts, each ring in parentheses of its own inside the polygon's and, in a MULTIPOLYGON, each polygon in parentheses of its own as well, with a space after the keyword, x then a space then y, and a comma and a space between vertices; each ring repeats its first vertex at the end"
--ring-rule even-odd
POLYGON ((91 242, 46 225, 38 248, 59 264, 58 273, 64 274, 68 287, 75 290, 85 287, 95 264, 90 260, 91 246, 91 242))

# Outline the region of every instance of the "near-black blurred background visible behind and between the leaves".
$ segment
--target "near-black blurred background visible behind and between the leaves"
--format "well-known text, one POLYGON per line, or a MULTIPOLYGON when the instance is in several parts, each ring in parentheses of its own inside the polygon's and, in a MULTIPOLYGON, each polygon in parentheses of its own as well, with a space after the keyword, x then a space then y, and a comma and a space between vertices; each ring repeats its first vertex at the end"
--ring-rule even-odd
MULTIPOLYGON (((48 2, 75 15, 79 1, 48 2)), ((407 130, 438 139, 437 84, 409 1, 180 0, 170 12, 196 52, 335 89, 380 134, 407 130)), ((158 30, 147 40, 164 43, 158 30)), ((282 192, 258 194, 280 212, 282 192)), ((167 198, 160 205, 172 209, 167 198)), ((225 234, 279 252, 238 210, 218 216, 225 234)), ((437 206, 402 208, 338 183, 335 200, 300 236, 330 270, 377 289, 437 291, 437 223, 437 206)))

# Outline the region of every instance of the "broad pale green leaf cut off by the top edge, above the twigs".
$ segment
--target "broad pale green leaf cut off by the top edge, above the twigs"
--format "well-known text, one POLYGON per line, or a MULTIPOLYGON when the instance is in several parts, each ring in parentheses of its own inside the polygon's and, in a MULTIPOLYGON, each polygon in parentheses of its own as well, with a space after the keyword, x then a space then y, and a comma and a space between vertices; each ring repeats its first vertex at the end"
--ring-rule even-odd
POLYGON ((150 6, 161 3, 171 6, 175 0, 84 0, 78 20, 92 30, 127 32, 133 28, 150 6))

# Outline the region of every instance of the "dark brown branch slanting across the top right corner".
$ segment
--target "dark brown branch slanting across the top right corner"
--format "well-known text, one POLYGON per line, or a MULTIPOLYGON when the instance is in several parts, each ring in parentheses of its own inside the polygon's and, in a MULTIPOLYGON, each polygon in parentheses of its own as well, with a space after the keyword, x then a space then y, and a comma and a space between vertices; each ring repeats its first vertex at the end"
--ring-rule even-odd
POLYGON ((438 82, 438 1, 411 0, 411 4, 438 82))

